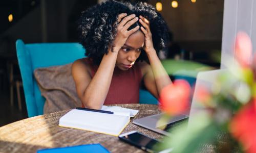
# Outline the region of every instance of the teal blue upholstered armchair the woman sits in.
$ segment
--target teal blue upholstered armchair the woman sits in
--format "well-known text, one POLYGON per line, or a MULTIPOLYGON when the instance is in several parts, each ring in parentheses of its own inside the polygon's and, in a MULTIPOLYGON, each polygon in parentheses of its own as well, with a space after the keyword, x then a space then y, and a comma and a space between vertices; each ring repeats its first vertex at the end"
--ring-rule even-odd
MULTIPOLYGON (((84 48, 79 43, 34 43, 16 41, 20 73, 22 75, 28 116, 43 114, 45 98, 41 96, 33 71, 39 67, 57 66, 72 63, 84 57, 84 48)), ((140 90, 141 103, 157 104, 149 92, 140 90)))

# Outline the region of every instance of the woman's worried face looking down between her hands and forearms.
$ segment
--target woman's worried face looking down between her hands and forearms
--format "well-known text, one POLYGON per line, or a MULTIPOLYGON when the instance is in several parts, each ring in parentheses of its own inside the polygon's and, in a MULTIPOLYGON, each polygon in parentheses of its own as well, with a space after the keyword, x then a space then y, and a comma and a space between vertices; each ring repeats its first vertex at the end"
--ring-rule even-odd
POLYGON ((145 36, 141 31, 130 35, 118 52, 116 66, 121 70, 131 68, 140 56, 144 41, 145 36))

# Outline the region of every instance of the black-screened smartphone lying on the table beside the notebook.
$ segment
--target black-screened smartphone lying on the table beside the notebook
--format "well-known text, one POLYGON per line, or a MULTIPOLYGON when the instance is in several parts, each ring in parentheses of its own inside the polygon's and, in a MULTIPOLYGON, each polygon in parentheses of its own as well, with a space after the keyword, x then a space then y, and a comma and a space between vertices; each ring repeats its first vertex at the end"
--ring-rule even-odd
POLYGON ((165 150, 159 150, 154 147, 155 144, 161 143, 160 141, 150 138, 142 133, 137 131, 132 131, 128 133, 124 133, 118 136, 118 138, 124 142, 130 143, 142 150, 147 152, 170 152, 171 148, 165 150))

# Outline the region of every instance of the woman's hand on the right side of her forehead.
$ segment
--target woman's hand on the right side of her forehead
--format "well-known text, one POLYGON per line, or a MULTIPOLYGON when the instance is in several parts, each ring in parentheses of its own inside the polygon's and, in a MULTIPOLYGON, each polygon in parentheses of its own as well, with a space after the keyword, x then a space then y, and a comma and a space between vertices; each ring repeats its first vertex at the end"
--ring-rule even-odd
POLYGON ((143 49, 145 50, 146 54, 156 52, 156 50, 154 49, 152 34, 150 31, 150 21, 140 15, 139 22, 143 25, 143 27, 140 27, 140 29, 145 35, 145 44, 143 46, 143 49))

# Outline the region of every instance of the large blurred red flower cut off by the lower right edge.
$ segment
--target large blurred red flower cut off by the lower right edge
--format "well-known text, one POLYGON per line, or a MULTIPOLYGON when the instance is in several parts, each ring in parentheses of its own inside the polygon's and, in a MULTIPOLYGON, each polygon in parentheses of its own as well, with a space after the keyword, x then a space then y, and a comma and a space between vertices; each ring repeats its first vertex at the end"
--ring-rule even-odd
POLYGON ((231 120, 230 132, 246 152, 256 152, 256 99, 243 107, 231 120))

